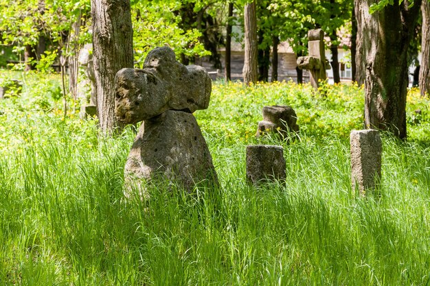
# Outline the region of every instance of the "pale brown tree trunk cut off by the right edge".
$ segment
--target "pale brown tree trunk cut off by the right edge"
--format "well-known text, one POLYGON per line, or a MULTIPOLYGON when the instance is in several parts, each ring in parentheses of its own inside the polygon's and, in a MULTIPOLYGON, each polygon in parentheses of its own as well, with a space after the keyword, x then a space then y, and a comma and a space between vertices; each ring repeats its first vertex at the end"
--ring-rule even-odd
POLYGON ((420 90, 421 96, 428 95, 430 91, 430 3, 423 0, 422 12, 422 34, 421 34, 421 67, 420 67, 420 90))

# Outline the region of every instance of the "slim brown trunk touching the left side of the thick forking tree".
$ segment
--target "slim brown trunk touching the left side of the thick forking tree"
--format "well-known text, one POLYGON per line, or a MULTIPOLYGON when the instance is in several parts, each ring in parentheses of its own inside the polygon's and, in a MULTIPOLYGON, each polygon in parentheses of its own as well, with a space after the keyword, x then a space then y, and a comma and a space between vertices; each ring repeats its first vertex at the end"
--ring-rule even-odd
MULTIPOLYGON (((364 58, 364 51, 363 51, 363 16, 361 15, 361 11, 359 10, 359 7, 361 5, 361 2, 367 3, 369 0, 354 0, 354 15, 355 20, 357 23, 357 32, 356 32, 356 50, 355 50, 355 81, 357 84, 361 85, 364 84, 364 77, 365 77, 365 58, 364 58)), ((368 14, 368 12, 367 12, 368 14)), ((379 36, 377 36, 379 37, 379 36)))

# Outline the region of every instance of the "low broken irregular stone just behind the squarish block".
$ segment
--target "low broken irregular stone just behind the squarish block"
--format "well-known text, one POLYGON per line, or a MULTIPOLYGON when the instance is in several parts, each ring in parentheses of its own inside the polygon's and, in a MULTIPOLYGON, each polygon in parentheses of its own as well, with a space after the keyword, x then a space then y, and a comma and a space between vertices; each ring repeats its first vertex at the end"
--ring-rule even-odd
POLYGON ((289 133, 299 132, 297 115, 290 106, 264 106, 262 113, 263 120, 258 122, 256 137, 275 132, 286 138, 289 133))

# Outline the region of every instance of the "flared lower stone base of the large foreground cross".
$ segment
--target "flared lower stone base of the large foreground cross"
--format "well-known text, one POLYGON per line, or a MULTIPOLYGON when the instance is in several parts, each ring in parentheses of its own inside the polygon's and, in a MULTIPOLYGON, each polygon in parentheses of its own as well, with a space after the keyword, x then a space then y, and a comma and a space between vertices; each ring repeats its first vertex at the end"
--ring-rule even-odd
MULTIPOLYGON (((168 110, 142 123, 127 158, 125 180, 149 181, 157 176, 188 191, 196 184, 218 185, 212 156, 191 113, 168 110)), ((139 191, 147 197, 144 187, 139 191)))

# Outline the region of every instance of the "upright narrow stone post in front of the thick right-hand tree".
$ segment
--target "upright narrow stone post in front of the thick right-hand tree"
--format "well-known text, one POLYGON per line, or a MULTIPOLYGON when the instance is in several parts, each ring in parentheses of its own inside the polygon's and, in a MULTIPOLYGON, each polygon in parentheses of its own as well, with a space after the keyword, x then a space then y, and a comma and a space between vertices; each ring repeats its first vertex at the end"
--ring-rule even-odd
POLYGON ((381 179, 381 136, 377 130, 352 130, 350 145, 352 191, 366 195, 381 179))

